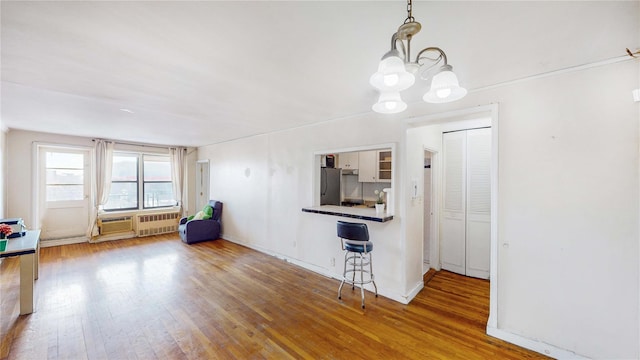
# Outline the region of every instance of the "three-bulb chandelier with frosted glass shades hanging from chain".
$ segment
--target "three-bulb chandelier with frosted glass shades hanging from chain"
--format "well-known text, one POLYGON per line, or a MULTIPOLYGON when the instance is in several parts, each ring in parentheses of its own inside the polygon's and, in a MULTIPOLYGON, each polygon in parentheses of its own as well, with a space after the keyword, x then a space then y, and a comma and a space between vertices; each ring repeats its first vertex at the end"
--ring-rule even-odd
POLYGON ((447 55, 442 49, 424 48, 418 52, 415 60, 411 61, 411 38, 421 28, 412 15, 411 0, 408 0, 407 18, 391 37, 391 50, 382 57, 378 72, 369 79, 371 85, 380 90, 378 102, 372 106, 373 111, 383 114, 404 111, 407 104, 400 98, 400 91, 410 88, 415 83, 415 74, 423 80, 428 79, 425 76, 441 62, 438 72, 431 79, 431 88, 422 99, 429 103, 444 103, 461 99, 467 94, 467 90, 458 84, 458 77, 447 63, 447 55), (428 56, 430 54, 432 57, 428 56))

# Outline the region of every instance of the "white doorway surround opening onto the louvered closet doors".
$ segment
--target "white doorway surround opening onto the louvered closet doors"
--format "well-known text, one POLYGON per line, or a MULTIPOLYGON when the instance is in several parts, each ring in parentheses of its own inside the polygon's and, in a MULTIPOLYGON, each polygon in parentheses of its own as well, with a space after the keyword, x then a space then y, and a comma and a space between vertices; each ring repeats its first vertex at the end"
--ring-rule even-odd
MULTIPOLYGON (((471 128, 490 127, 491 128, 491 146, 490 146, 490 241, 489 241, 489 278, 490 297, 489 297, 489 319, 487 326, 497 326, 497 295, 498 295, 498 223, 497 223, 497 204, 498 204, 498 104, 478 106, 469 109, 451 111, 447 113, 426 115, 406 120, 406 186, 411 186, 414 179, 419 179, 418 184, 423 184, 424 179, 424 158, 425 149, 434 150, 435 161, 431 161, 432 172, 432 217, 431 224, 438 229, 431 229, 432 236, 429 238, 429 266, 435 270, 439 270, 441 266, 441 249, 439 239, 441 234, 441 217, 442 204, 442 134, 456 130, 464 130, 471 128)), ((421 186, 422 187, 422 186, 421 186)), ((423 267, 424 267, 424 204, 428 200, 424 196, 424 187, 419 189, 417 195, 413 191, 405 191, 405 213, 406 234, 408 238, 417 238, 421 241, 410 242, 408 245, 407 259, 414 266, 409 269, 407 286, 411 288, 414 284, 423 284, 423 267), (418 206, 419 205, 419 206, 418 206), (420 248, 418 248, 418 246, 420 248)), ((419 286, 419 285, 415 285, 419 286)))

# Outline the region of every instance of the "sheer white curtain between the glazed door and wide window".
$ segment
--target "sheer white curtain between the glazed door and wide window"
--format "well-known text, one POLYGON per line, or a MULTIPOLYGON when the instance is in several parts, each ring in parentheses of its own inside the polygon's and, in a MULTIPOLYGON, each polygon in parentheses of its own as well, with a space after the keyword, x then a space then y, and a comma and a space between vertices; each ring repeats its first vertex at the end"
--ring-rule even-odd
POLYGON ((109 200, 111 190, 111 171, 113 169, 113 141, 96 140, 96 181, 95 181, 95 203, 92 208, 89 230, 87 237, 92 239, 98 235, 98 211, 101 205, 109 200))

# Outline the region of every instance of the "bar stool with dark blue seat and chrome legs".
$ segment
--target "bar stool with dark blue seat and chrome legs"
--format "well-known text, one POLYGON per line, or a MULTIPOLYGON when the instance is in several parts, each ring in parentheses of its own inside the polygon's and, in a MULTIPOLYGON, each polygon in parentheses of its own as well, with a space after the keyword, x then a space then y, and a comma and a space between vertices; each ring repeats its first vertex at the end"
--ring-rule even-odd
POLYGON ((355 290, 355 286, 358 285, 360 286, 362 308, 364 309, 365 284, 372 283, 376 297, 378 297, 378 287, 373 278, 373 266, 371 264, 373 243, 369 241, 369 230, 366 224, 338 221, 338 237, 342 243, 342 250, 345 251, 344 272, 342 273, 340 288, 338 288, 338 299, 342 299, 342 286, 345 283, 351 284, 351 290, 355 290), (369 270, 365 269, 367 265, 369 270), (359 273, 360 279, 356 279, 356 273, 359 273), (365 273, 368 274, 366 277, 365 273))

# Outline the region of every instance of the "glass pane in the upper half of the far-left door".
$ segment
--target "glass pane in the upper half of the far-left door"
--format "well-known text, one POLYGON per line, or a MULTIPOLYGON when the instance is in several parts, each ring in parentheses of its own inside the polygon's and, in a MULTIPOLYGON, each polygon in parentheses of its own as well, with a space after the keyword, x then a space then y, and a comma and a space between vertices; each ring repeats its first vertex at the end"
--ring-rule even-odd
POLYGON ((84 155, 46 152, 47 201, 84 199, 84 155))

